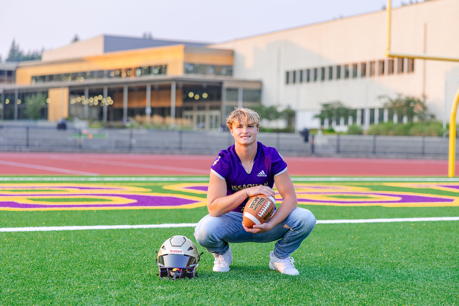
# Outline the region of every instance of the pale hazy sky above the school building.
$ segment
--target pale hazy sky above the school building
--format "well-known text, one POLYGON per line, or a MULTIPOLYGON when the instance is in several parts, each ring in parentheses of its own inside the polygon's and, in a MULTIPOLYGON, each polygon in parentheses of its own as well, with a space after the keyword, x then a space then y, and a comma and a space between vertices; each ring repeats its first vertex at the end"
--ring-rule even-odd
MULTIPOLYGON (((392 0, 392 7, 409 3, 392 0)), ((415 2, 413 0, 413 2, 415 2)), ((387 0, 14 0, 2 3, 0 56, 68 45, 75 34, 224 42, 379 11, 387 0)))

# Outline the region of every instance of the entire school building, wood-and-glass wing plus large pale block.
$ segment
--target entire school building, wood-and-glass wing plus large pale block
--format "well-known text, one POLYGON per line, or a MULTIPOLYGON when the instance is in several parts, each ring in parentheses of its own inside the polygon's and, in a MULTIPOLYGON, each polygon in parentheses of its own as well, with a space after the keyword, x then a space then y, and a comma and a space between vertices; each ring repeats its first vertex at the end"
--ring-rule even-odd
MULTIPOLYGON (((457 12, 457 0, 393 9, 392 51, 459 57, 457 12)), ((386 24, 381 10, 211 45, 101 35, 15 69, 1 64, 2 119, 24 118, 25 100, 39 92, 49 120, 156 114, 216 129, 234 106, 261 102, 295 110, 297 130, 368 127, 403 122, 381 99, 400 94, 425 99, 437 119, 449 121, 459 63, 385 57, 386 24), (338 100, 354 110, 352 117, 314 118, 322 103, 338 100)))

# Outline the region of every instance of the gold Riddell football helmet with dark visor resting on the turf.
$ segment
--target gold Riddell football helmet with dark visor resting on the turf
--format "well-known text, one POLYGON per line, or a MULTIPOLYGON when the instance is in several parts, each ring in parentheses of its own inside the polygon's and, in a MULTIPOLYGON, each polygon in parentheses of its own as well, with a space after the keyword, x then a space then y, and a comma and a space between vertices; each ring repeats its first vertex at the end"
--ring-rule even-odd
POLYGON ((187 237, 172 236, 164 241, 157 252, 156 263, 159 266, 157 275, 162 279, 167 277, 169 280, 198 277, 196 268, 202 253, 198 253, 196 245, 187 237))

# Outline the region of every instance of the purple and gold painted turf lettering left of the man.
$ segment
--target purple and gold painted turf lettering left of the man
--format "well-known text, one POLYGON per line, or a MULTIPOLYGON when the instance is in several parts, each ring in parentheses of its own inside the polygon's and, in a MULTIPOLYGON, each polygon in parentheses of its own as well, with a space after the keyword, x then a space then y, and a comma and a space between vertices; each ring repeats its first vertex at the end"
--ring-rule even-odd
POLYGON ((0 184, 0 210, 170 209, 206 206, 205 198, 132 186, 0 184))

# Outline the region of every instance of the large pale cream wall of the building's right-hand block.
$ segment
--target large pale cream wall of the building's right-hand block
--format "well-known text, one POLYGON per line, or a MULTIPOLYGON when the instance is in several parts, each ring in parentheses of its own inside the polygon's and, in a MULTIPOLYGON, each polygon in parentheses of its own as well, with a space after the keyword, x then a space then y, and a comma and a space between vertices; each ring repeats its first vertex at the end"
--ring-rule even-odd
MULTIPOLYGON (((392 10, 392 51, 459 56, 459 1, 430 0, 392 10)), ((426 96, 427 106, 443 117, 445 80, 448 101, 458 88, 459 63, 415 60, 414 72, 387 74, 386 11, 343 18, 306 27, 239 39, 211 48, 234 50, 234 76, 261 79, 265 105, 297 110, 297 129, 317 127, 313 115, 320 104, 341 100, 352 108, 379 108, 380 95, 426 96), (386 72, 360 77, 362 62, 386 61, 386 72), (358 64, 358 77, 285 84, 285 72, 358 64)), ((407 65, 405 60, 405 65, 407 65)), ((377 67, 376 67, 377 69, 377 67)), ((304 77, 305 78, 305 77, 304 77)), ((450 107, 451 102, 448 107, 450 107)), ((449 111, 448 111, 449 112, 449 111)))

